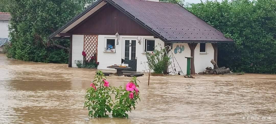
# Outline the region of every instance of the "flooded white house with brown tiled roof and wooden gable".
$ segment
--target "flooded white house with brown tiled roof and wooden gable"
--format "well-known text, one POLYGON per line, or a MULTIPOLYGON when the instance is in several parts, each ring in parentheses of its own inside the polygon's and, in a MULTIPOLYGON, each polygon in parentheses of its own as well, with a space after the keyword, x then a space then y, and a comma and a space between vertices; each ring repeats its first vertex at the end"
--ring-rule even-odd
POLYGON ((213 66, 217 43, 233 42, 184 7, 157 0, 98 0, 49 38, 70 39, 69 67, 83 60, 84 51, 87 59, 97 55, 98 69, 136 60, 136 71, 142 72, 145 53, 161 44, 171 46, 184 73, 185 57, 193 56, 192 74, 213 66))

